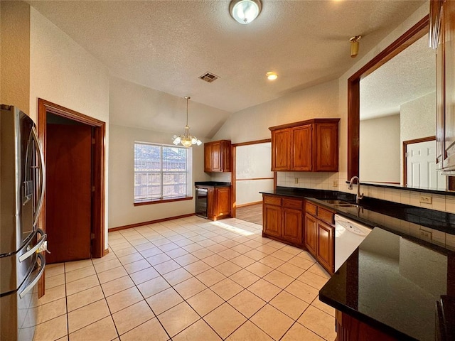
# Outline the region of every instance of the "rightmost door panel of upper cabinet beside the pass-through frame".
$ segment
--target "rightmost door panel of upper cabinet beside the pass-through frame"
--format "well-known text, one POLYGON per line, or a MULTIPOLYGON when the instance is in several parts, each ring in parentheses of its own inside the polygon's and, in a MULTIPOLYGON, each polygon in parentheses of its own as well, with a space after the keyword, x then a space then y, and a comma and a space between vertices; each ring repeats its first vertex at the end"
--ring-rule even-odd
POLYGON ((338 123, 316 124, 313 171, 338 172, 338 123))

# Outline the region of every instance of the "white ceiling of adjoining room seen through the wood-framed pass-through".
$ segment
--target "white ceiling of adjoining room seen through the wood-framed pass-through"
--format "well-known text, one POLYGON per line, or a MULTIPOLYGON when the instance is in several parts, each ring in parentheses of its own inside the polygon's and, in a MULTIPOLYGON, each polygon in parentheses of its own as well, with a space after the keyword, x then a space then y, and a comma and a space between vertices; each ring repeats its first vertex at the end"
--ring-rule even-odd
POLYGON ((436 55, 428 35, 360 80, 360 119, 400 113, 400 105, 436 90, 436 55))

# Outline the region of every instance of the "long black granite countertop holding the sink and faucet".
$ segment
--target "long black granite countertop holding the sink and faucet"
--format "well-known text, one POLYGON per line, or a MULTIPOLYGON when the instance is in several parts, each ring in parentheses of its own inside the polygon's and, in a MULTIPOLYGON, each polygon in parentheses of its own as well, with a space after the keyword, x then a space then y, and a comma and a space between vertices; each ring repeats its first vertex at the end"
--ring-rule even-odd
POLYGON ((338 199, 355 203, 355 195, 334 190, 311 190, 305 188, 282 188, 261 192, 269 195, 300 197, 316 202, 337 214, 362 222, 370 227, 382 227, 392 231, 402 231, 403 222, 417 224, 441 232, 455 234, 455 215, 448 212, 429 210, 423 207, 400 204, 365 197, 359 207, 340 207, 324 202, 324 199, 338 199))

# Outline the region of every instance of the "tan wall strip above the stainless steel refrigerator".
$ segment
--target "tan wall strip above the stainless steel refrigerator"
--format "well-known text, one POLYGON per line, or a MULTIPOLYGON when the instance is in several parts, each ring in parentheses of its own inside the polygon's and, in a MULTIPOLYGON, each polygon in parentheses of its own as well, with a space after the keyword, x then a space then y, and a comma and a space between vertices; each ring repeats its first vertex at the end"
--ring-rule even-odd
POLYGON ((30 6, 1 1, 0 33, 0 102, 30 114, 30 6))

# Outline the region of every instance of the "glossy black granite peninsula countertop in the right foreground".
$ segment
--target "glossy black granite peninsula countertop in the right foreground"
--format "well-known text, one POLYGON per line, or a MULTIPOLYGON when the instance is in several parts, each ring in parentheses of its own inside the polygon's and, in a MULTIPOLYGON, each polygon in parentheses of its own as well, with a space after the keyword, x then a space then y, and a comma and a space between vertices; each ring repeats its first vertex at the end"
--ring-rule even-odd
POLYGON ((397 340, 435 340, 436 301, 455 296, 455 252, 376 227, 319 298, 397 340))

